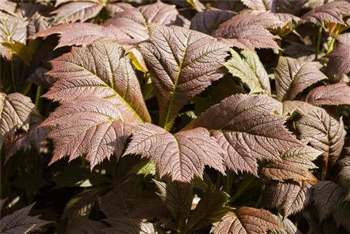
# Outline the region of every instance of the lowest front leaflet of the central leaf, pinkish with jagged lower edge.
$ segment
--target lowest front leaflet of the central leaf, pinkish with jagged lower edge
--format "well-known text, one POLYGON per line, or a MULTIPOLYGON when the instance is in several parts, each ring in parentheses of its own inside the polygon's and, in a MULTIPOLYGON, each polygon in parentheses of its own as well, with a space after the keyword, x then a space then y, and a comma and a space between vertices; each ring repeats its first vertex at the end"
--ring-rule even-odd
POLYGON ((204 128, 178 132, 146 123, 137 125, 124 155, 141 154, 157 166, 160 177, 169 174, 172 181, 189 183, 196 175, 202 178, 204 165, 225 174, 223 150, 204 128))

